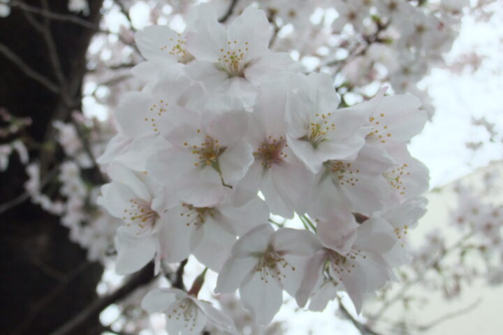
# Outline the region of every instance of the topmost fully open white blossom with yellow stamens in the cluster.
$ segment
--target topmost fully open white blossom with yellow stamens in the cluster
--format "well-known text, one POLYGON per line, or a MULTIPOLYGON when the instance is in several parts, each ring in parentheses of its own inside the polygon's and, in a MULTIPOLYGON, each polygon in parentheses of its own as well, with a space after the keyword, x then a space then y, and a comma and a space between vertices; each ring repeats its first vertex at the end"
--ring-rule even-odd
POLYGON ((196 32, 187 34, 187 50, 196 61, 185 70, 205 86, 242 99, 252 105, 255 87, 296 68, 289 54, 270 52, 270 28, 262 10, 245 9, 226 28, 215 18, 194 24, 196 32))

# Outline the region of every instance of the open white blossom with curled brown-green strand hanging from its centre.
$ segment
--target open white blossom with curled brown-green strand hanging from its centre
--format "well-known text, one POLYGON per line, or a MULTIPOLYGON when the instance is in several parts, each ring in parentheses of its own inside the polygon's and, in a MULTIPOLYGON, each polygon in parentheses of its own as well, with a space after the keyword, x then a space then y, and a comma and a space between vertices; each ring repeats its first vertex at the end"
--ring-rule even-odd
POLYGON ((172 107, 166 118, 166 139, 172 147, 147 163, 159 181, 180 200, 211 207, 245 176, 253 163, 251 146, 244 140, 244 112, 199 114, 172 107))

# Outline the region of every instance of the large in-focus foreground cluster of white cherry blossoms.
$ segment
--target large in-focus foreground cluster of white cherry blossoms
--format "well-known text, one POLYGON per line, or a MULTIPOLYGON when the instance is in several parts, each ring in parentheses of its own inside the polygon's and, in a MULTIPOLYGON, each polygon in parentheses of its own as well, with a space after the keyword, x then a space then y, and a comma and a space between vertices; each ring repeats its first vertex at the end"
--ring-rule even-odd
MULTIPOLYGON (((193 8, 181 34, 139 31, 147 61, 132 73, 145 85, 125 94, 119 132, 99 157, 111 182, 98 203, 122 221, 117 272, 194 255, 218 274, 214 291, 239 290, 260 325, 283 291, 314 311, 345 291, 360 311, 409 261, 402 240, 428 189, 428 169, 407 151, 427 119, 418 98, 381 89, 340 107, 332 77, 302 73, 270 50, 271 36, 263 10, 249 6, 224 26, 211 4, 193 8), (303 228, 286 227, 299 220, 303 228)), ((207 324, 233 332, 226 314, 197 299, 205 272, 189 292, 143 299, 166 313, 170 334, 207 324)))

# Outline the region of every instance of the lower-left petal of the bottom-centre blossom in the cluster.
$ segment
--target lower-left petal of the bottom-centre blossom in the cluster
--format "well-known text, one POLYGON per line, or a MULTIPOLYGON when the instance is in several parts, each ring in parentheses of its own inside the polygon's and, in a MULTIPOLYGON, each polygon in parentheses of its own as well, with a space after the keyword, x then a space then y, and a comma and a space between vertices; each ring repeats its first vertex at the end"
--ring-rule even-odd
POLYGON ((255 258, 235 258, 226 260, 217 278, 215 293, 232 293, 239 288, 243 278, 250 271, 255 271, 257 260, 255 258))

